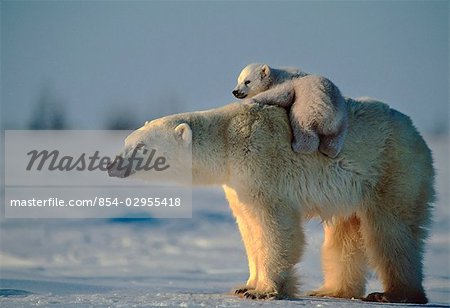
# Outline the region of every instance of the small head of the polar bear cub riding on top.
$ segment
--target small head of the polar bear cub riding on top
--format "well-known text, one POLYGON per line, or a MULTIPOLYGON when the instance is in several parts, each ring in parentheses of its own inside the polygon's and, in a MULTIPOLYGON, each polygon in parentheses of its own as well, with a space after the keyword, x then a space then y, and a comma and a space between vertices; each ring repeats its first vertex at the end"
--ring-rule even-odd
POLYGON ((237 98, 251 98, 272 86, 271 69, 267 64, 247 65, 239 74, 233 95, 237 98))

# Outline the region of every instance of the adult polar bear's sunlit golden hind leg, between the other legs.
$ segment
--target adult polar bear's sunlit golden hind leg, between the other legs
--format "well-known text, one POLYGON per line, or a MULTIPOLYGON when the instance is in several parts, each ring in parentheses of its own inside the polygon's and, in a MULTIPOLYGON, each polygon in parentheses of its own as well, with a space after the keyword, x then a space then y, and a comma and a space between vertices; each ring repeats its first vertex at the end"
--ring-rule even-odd
POLYGON ((361 298, 366 284, 366 258, 356 215, 324 226, 323 286, 309 296, 361 298))

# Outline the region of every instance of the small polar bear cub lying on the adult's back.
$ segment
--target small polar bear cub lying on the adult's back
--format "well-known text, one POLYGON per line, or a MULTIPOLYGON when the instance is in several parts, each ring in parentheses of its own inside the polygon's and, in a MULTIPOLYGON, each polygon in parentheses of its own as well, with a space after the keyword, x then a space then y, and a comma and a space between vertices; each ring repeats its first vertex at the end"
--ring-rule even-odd
POLYGON ((334 158, 341 151, 347 133, 347 110, 338 87, 330 80, 300 69, 253 63, 239 74, 233 95, 290 108, 295 152, 319 150, 334 158))

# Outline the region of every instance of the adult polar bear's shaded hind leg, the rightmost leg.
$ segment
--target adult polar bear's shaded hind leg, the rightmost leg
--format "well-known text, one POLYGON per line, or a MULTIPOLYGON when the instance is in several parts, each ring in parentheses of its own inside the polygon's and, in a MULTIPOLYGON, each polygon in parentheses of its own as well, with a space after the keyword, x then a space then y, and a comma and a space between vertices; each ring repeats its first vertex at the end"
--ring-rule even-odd
POLYGON ((368 210, 361 216, 361 231, 368 257, 383 284, 384 292, 363 300, 425 304, 422 287, 423 241, 413 228, 387 210, 368 210))

